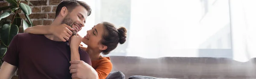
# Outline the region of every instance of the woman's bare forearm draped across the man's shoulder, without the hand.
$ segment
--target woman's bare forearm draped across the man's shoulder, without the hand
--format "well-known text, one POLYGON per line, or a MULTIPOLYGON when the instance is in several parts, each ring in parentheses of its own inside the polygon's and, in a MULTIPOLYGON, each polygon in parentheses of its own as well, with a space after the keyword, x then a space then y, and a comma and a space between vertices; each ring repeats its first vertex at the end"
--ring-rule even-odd
POLYGON ((27 28, 24 32, 30 34, 51 34, 49 28, 49 25, 36 25, 27 28))

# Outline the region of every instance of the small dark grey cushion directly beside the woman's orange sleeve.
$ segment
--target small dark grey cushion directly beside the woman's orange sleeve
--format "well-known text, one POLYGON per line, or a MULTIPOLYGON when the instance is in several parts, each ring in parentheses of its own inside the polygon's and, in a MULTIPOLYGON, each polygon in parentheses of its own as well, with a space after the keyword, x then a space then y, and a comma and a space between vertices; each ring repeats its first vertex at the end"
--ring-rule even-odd
POLYGON ((106 79, 125 79, 125 74, 121 71, 114 71, 109 73, 106 79))

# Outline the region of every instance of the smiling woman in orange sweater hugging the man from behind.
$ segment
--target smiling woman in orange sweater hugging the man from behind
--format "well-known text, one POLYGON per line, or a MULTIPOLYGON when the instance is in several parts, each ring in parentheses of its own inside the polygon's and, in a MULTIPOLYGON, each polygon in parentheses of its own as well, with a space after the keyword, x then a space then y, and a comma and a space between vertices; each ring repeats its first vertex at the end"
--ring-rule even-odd
MULTIPOLYGON (((49 27, 51 26, 37 25, 31 28, 27 28, 25 30, 25 33, 56 35, 58 34, 56 33, 58 31, 55 31, 55 30, 62 29, 65 26, 55 27, 55 28, 49 28, 49 27), (49 31, 52 31, 52 32, 48 33, 49 31)), ((72 28, 69 28, 69 29, 72 29, 72 28)), ((92 67, 98 73, 99 79, 105 79, 112 70, 112 63, 109 57, 103 57, 100 55, 100 53, 109 54, 110 51, 116 48, 118 43, 123 44, 126 41, 126 32, 127 30, 124 27, 120 27, 117 29, 112 23, 103 22, 103 23, 94 25, 92 29, 87 31, 87 35, 81 38, 81 40, 77 39, 78 37, 72 36, 71 40, 77 40, 77 41, 71 41, 70 43, 76 43, 76 46, 79 46, 80 42, 82 41, 84 44, 87 45, 87 48, 82 46, 80 47, 84 51, 87 51, 87 53, 90 55, 92 67)), ((79 53, 77 52, 78 48, 73 48, 73 47, 75 46, 70 45, 71 55, 76 54, 74 55, 75 58, 80 59, 79 53), (75 51, 72 51, 72 50, 75 50, 75 51)))

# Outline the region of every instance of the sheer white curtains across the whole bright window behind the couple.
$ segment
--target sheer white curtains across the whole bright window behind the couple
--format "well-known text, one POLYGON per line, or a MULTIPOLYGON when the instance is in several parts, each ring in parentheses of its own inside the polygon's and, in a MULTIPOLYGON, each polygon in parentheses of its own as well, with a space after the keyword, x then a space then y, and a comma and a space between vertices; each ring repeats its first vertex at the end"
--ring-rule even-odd
MULTIPOLYGON (((128 29, 105 56, 158 58, 256 56, 254 0, 83 0, 93 9, 86 31, 102 21, 128 29)), ((83 44, 83 43, 82 43, 83 44)))

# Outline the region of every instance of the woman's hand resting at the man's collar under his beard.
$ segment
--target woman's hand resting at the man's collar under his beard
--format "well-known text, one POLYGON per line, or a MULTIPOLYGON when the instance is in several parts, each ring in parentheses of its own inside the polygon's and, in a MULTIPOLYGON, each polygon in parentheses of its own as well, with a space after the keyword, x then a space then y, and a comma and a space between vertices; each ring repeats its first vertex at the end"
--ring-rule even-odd
POLYGON ((74 29, 71 28, 71 26, 66 24, 61 24, 58 26, 50 26, 49 28, 49 32, 54 36, 58 37, 63 42, 66 42, 72 36, 73 30, 74 29))

